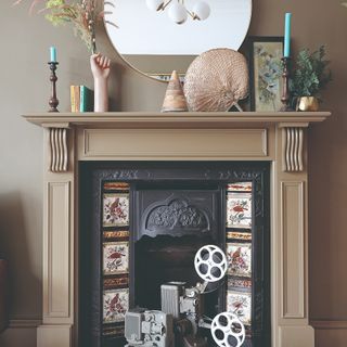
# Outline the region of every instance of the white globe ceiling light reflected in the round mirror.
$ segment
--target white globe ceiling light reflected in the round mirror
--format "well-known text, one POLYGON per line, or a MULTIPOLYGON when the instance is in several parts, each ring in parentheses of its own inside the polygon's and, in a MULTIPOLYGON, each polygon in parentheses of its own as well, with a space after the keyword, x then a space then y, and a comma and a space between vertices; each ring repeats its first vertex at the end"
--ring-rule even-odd
POLYGON ((168 16, 177 24, 183 24, 190 15, 194 21, 205 21, 210 13, 208 3, 197 1, 192 11, 184 5, 184 0, 146 0, 146 5, 152 11, 164 11, 168 8, 168 16))

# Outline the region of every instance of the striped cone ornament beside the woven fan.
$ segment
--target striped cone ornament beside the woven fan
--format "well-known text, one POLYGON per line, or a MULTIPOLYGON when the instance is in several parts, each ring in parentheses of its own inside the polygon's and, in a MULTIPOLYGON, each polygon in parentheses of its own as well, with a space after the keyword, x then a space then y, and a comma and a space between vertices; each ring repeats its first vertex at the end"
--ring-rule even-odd
POLYGON ((174 70, 169 85, 167 86, 162 112, 185 111, 188 111, 187 100, 178 74, 174 70))

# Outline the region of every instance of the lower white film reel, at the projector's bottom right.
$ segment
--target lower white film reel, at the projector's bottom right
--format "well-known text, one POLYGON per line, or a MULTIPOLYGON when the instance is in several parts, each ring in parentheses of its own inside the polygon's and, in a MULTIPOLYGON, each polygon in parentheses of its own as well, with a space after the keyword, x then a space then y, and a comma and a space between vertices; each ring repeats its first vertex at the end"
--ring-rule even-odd
POLYGON ((245 326, 236 314, 230 312, 216 316, 210 331, 219 347, 241 347, 246 337, 245 326))

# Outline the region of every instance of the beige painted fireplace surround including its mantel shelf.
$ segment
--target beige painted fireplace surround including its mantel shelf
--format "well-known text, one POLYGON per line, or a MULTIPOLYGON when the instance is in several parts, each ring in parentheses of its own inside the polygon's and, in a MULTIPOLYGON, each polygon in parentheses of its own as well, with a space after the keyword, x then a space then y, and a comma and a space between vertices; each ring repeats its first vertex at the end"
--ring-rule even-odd
POLYGON ((267 160, 271 163, 272 347, 313 347, 308 320, 306 130, 329 116, 26 115, 44 129, 43 317, 37 346, 78 346, 79 160, 267 160))

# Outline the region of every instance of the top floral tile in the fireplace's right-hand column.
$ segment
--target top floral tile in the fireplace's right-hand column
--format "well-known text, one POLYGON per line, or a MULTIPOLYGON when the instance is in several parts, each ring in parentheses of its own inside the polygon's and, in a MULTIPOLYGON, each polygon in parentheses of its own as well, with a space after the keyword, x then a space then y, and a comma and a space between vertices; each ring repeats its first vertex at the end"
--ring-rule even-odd
POLYGON ((252 228, 252 193, 227 194, 227 227, 252 228))

